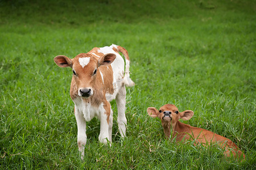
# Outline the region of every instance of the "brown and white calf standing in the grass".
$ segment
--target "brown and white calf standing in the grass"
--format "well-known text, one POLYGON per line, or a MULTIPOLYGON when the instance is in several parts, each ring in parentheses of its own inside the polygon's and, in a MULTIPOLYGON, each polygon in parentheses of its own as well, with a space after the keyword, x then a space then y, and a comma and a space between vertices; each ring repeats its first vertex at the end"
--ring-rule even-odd
POLYGON ((70 96, 75 103, 77 144, 81 158, 84 157, 86 144, 86 121, 93 117, 100 120, 99 141, 112 141, 113 111, 109 102, 113 99, 117 103, 118 129, 121 137, 125 137, 125 86, 134 86, 130 79, 127 50, 112 44, 103 48, 93 48, 90 52, 81 53, 73 59, 56 56, 54 61, 60 67, 72 68, 70 96), (125 56, 126 65, 119 52, 125 56))

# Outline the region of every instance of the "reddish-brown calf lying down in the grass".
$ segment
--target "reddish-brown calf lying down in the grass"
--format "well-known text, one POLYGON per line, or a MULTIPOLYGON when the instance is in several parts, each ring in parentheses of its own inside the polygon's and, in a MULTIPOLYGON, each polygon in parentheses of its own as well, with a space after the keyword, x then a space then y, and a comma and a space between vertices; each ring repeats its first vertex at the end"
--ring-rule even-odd
POLYGON ((171 137, 171 139, 175 138, 176 141, 195 140, 197 144, 201 143, 202 145, 218 143, 218 145, 225 148, 226 156, 230 156, 231 150, 235 157, 238 154, 239 157, 243 156, 243 159, 245 159, 245 155, 230 139, 222 137, 212 131, 189 126, 179 121, 179 119, 189 120, 194 114, 193 111, 187 110, 179 112, 175 105, 166 104, 163 105, 159 111, 154 107, 149 107, 147 108, 147 113, 151 117, 160 118, 167 139, 171 137))

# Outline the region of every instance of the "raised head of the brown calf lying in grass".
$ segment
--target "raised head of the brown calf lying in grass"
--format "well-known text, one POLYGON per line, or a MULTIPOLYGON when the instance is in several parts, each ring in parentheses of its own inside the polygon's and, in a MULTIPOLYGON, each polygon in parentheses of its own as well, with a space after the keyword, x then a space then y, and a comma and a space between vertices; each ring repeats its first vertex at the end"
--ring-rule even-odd
POLYGON ((159 117, 163 128, 170 127, 170 125, 172 125, 171 127, 174 127, 180 119, 189 120, 194 114, 193 111, 189 110, 179 112, 173 104, 163 105, 159 110, 154 107, 149 107, 147 108, 147 113, 151 117, 159 117))

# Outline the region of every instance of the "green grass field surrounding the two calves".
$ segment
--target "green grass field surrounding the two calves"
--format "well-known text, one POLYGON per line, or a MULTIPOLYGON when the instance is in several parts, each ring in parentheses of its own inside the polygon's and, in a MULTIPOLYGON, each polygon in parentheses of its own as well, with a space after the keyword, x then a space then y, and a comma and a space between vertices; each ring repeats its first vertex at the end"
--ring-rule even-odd
POLYGON ((0 1, 1 169, 256 169, 255 1, 0 1), (71 69, 53 58, 125 47, 127 138, 114 111, 113 145, 87 123, 84 162, 69 97, 71 69), (243 162, 217 147, 166 141, 147 107, 175 104, 185 124, 231 139, 243 162))

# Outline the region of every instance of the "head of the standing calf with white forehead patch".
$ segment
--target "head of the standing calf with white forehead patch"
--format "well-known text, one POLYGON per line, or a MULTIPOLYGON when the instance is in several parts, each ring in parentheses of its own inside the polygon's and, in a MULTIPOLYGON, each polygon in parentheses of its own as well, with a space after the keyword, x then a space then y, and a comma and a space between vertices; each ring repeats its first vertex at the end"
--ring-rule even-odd
POLYGON ((109 65, 115 59, 115 54, 105 54, 99 59, 94 58, 91 54, 81 53, 75 58, 70 59, 66 56, 56 56, 55 63, 60 67, 71 67, 73 78, 75 79, 78 95, 88 98, 93 95, 93 87, 96 83, 98 67, 109 65))

